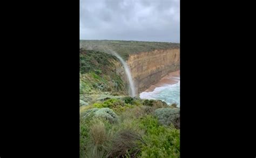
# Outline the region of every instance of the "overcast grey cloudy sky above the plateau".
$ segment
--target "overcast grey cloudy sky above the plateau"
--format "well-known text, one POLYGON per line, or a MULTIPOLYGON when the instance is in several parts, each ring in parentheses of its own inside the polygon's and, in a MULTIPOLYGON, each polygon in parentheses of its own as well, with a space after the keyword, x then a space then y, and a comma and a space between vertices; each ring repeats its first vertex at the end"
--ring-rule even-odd
POLYGON ((180 42, 179 0, 80 0, 80 39, 180 42))

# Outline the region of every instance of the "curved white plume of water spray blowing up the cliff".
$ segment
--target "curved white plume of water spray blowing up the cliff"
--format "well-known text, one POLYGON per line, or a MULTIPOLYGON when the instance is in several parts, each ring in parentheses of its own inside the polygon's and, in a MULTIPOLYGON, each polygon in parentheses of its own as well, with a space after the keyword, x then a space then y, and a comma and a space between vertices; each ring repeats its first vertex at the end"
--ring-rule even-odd
POLYGON ((111 53, 116 56, 120 61, 121 63, 124 65, 124 69, 125 69, 125 73, 128 77, 128 80, 129 80, 129 84, 130 84, 130 96, 131 97, 135 97, 136 94, 135 94, 135 87, 134 87, 134 83, 133 83, 133 80, 132 80, 132 75, 131 75, 131 71, 130 71, 130 68, 129 66, 125 63, 125 61, 122 59, 122 57, 120 57, 116 52, 114 51, 111 51, 111 53))

